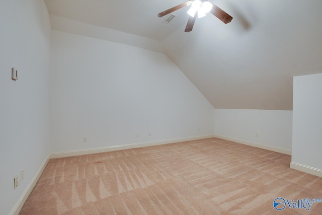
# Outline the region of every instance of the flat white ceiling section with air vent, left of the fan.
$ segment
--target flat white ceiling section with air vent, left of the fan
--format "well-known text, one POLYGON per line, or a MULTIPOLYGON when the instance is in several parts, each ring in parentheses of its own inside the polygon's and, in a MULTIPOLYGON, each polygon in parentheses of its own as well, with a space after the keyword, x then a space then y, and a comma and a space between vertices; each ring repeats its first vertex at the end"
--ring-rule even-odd
POLYGON ((45 0, 49 14, 81 21, 100 27, 163 40, 188 20, 189 8, 176 11, 171 24, 159 18, 158 13, 185 2, 185 0, 45 0))

